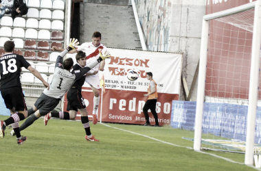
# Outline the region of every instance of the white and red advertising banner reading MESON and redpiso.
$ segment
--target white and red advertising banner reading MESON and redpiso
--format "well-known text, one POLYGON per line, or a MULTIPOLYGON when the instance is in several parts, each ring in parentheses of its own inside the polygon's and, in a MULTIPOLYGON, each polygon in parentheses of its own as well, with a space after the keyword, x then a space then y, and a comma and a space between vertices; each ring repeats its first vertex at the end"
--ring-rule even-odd
MULTIPOLYGON (((144 94, 148 94, 150 83, 146 79, 146 73, 152 72, 159 96, 156 107, 159 125, 170 124, 172 100, 179 100, 182 55, 126 49, 109 49, 109 51, 111 57, 105 60, 104 72, 100 72, 100 79, 104 78, 104 91, 100 89, 98 120, 144 124, 142 108, 147 101, 144 94), (128 80, 126 74, 129 70, 136 70, 139 73, 136 81, 128 80)), ((93 92, 87 86, 83 88, 82 95, 89 114, 92 114, 93 92)), ((65 110, 66 103, 65 101, 65 110)), ((155 124, 150 111, 148 114, 150 123, 155 124)))

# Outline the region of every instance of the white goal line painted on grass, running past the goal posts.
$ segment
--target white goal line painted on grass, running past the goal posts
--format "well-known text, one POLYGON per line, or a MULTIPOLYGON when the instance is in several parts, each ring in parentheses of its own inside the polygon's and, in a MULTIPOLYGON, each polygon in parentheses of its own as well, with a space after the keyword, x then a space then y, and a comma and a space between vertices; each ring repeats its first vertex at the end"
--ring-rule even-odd
MULTIPOLYGON (((100 123, 100 124, 103 124, 103 125, 106 126, 106 127, 111 127, 111 126, 109 126, 108 124, 104 124, 104 123, 100 123)), ((117 128, 117 127, 111 127, 111 128, 113 128, 113 129, 119 129, 119 128, 117 128)), ((135 133, 135 132, 133 132, 133 131, 128 131, 128 130, 125 130, 125 129, 119 129, 119 130, 125 131, 125 132, 128 132, 128 133, 133 133, 133 134, 136 134, 136 135, 141 135, 141 136, 143 136, 143 137, 148 137, 148 138, 150 138, 151 140, 155 140, 155 141, 158 141, 158 142, 162 142, 162 143, 164 143, 164 144, 169 144, 169 145, 172 145, 172 146, 177 146, 177 147, 182 147, 182 148, 188 148, 188 149, 190 149, 190 150, 193 150, 193 148, 190 147, 190 146, 179 146, 179 145, 177 145, 177 144, 172 144, 172 143, 170 143, 170 142, 164 142, 164 141, 159 140, 159 139, 156 139, 156 138, 154 138, 154 137, 149 137, 149 136, 147 136, 147 135, 143 135, 143 134, 140 134, 140 133, 135 133)), ((238 163, 238 164, 241 164, 241 165, 245 165, 245 163, 240 163, 240 162, 238 162, 238 161, 234 161, 234 160, 228 159, 228 158, 226 158, 226 157, 221 157, 221 156, 219 156, 219 155, 214 155, 214 154, 212 154, 212 153, 205 153, 205 152, 203 152, 203 151, 197 151, 197 150, 194 150, 194 151, 195 151, 195 152, 198 152, 198 153, 203 153, 203 154, 206 154, 206 155, 212 155, 213 157, 217 157, 217 158, 220 158, 220 159, 224 159, 225 161, 229 161, 229 162, 231 162, 231 163, 238 163)), ((245 165, 245 166, 249 166, 249 165, 245 165)), ((249 167, 261 171, 260 168, 256 168, 255 166, 249 166, 249 167)))

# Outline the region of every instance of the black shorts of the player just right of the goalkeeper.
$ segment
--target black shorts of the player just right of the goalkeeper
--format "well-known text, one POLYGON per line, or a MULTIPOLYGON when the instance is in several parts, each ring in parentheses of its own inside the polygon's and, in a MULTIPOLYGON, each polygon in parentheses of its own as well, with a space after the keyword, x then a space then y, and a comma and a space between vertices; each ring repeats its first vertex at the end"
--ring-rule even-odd
POLYGON ((67 111, 86 108, 84 99, 82 98, 82 93, 77 88, 71 88, 67 92, 67 111))

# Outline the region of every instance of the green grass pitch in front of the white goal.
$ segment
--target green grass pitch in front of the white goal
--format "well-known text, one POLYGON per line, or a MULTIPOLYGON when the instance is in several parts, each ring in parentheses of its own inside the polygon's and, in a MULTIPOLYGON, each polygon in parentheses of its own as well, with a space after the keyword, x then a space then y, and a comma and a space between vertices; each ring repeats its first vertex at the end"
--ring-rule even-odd
MULTIPOLYGON (((7 116, 0 116, 5 120, 7 116)), ((21 125, 22 122, 19 122, 21 125)), ((82 123, 43 118, 21 132, 27 136, 16 144, 6 129, 0 140, 0 170, 255 170, 245 166, 242 154, 205 151, 227 157, 232 163, 192 150, 194 132, 171 127, 144 127, 130 124, 91 124, 91 133, 100 142, 84 139, 82 123)))

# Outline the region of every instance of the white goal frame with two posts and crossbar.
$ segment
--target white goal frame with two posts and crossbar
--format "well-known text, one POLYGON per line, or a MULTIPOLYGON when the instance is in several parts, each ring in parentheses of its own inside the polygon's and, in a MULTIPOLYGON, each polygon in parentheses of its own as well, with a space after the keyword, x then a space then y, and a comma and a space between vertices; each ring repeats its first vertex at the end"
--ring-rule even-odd
POLYGON ((253 147, 255 140, 256 129, 256 108, 258 102, 258 77, 260 67, 260 40, 261 40, 261 0, 247 3, 245 5, 208 14, 203 16, 203 26, 201 34, 201 53, 200 64, 198 71, 198 93, 196 99, 196 118, 195 118, 195 131, 194 131, 194 150, 201 150, 201 137, 203 126, 203 104, 205 97, 205 79, 207 71, 207 46, 209 37, 209 21, 243 12, 249 9, 255 9, 253 19, 253 39, 251 47, 251 70, 249 81, 249 105, 247 113, 247 137, 246 137, 246 150, 245 150, 245 164, 253 165, 253 147))

